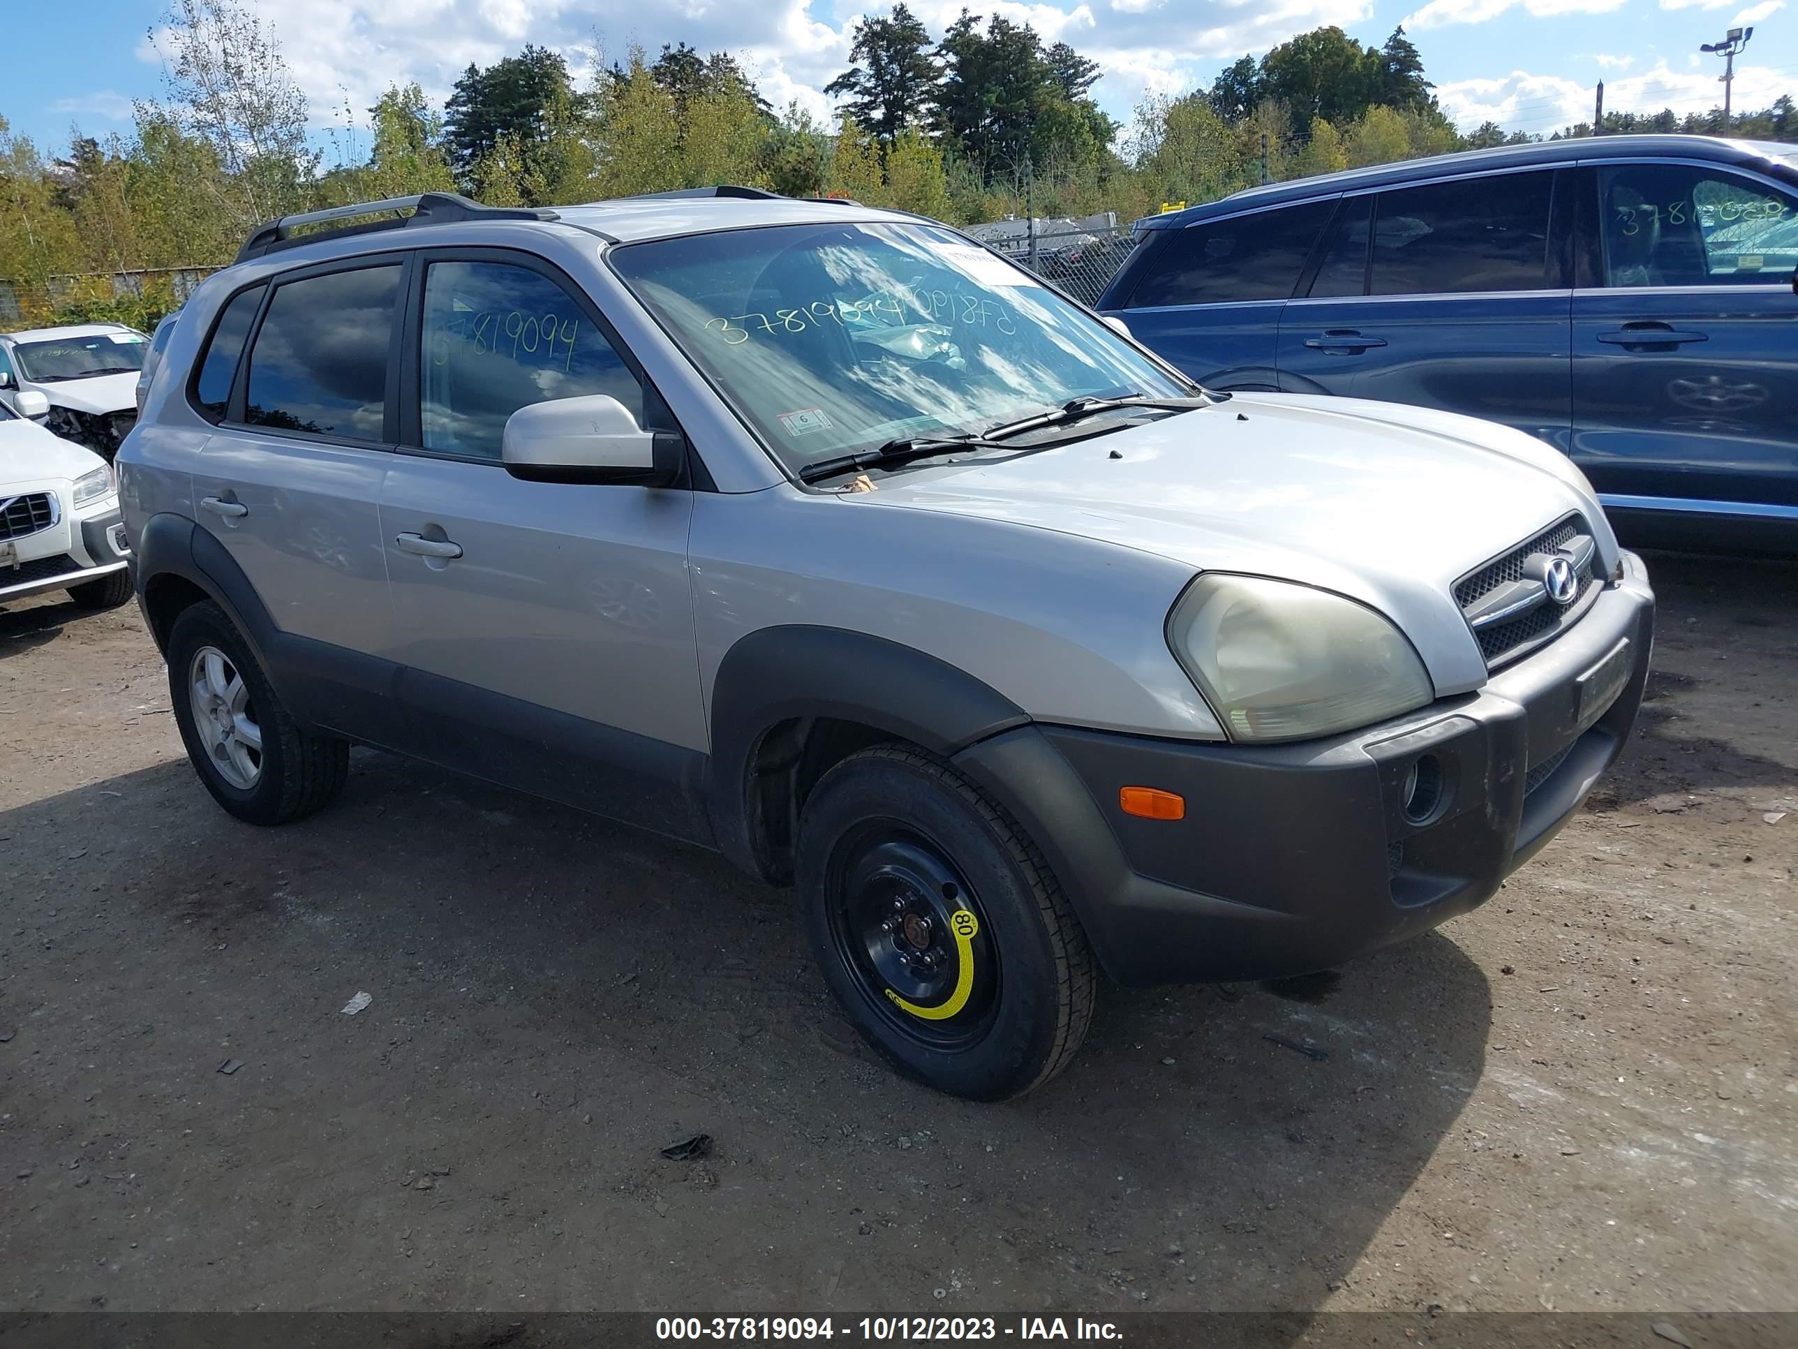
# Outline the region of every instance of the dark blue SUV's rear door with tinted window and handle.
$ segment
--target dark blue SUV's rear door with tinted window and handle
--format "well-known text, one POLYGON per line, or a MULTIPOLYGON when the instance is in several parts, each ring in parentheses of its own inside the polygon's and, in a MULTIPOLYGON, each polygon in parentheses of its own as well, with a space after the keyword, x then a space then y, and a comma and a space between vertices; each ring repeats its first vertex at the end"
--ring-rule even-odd
POLYGON ((1566 450, 1559 221, 1571 198, 1559 178, 1528 169, 1347 196, 1305 297, 1280 318, 1280 389, 1464 412, 1566 450))

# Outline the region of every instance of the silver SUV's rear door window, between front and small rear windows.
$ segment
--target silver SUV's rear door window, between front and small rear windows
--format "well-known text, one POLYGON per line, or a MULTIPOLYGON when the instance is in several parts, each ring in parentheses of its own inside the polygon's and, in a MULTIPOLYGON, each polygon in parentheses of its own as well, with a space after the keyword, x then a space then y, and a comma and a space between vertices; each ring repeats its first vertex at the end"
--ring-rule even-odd
POLYGON ((245 421, 345 441, 385 439, 399 264, 275 286, 250 347, 245 421))

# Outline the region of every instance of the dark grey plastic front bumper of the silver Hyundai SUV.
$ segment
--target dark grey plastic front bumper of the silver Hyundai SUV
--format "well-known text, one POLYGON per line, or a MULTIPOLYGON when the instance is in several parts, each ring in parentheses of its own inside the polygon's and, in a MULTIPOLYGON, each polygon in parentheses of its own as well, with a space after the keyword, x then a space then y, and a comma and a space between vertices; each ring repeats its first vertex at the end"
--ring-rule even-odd
POLYGON ((957 764, 1043 847, 1118 982, 1300 975, 1482 905, 1548 844, 1622 752, 1652 640, 1647 572, 1624 554, 1550 646, 1368 730, 1244 746, 1032 725, 957 764), (1420 761, 1440 791, 1411 818, 1420 761), (1187 817, 1124 815, 1122 786, 1178 791, 1187 817))

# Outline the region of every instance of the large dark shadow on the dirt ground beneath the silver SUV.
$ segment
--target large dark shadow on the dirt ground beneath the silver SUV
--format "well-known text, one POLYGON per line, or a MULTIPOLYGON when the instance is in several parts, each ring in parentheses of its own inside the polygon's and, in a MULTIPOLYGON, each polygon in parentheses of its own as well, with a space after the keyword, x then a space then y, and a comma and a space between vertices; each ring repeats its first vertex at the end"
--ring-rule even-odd
MULTIPOLYGON (((1278 995, 1102 987, 1068 1072, 978 1106, 859 1045, 789 894, 424 766, 358 752, 254 829, 169 763, 0 836, 34 858, 9 1149, 135 1140, 160 1214, 115 1308, 1305 1311, 1482 1146, 1491 995, 1444 935, 1278 995), (660 1157, 696 1131, 710 1158, 660 1157)), ((106 1218, 36 1198, 0 1304, 90 1306, 101 1237, 59 1234, 106 1218)))

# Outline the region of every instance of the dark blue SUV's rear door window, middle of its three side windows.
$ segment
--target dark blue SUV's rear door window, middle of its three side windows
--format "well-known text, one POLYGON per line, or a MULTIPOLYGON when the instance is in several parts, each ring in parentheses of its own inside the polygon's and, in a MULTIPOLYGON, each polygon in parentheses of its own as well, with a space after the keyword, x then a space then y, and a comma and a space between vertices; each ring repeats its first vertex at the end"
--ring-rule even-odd
POLYGON ((1381 192, 1370 295, 1543 290, 1553 173, 1503 173, 1381 192))

